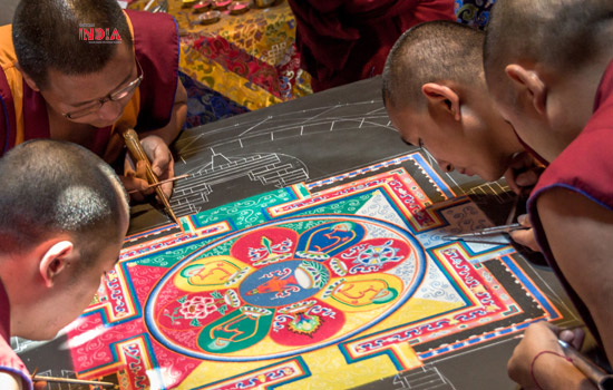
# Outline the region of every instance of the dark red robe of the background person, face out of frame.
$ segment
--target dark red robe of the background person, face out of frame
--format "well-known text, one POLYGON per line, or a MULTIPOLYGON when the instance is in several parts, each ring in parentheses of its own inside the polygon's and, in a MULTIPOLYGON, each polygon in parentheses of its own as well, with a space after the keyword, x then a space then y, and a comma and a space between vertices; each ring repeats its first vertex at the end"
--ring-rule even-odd
POLYGON ((391 47, 412 26, 456 20, 454 0, 289 0, 301 67, 313 91, 380 75, 391 47))

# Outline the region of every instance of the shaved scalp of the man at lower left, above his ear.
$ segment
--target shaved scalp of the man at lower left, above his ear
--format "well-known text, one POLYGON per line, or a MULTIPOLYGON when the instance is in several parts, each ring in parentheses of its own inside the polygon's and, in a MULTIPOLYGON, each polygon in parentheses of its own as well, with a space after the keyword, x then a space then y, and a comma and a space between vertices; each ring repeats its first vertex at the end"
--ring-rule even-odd
POLYGON ((113 169, 91 152, 37 139, 0 159, 0 252, 23 253, 67 235, 84 265, 124 237, 128 198, 113 169))

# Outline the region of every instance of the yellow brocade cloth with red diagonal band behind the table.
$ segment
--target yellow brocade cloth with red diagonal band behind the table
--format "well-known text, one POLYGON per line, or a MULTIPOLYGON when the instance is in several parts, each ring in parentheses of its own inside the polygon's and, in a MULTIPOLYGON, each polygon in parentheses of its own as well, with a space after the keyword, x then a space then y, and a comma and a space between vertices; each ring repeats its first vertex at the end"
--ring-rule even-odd
POLYGON ((202 26, 198 16, 168 1, 179 28, 181 69, 250 110, 312 92, 295 50, 295 19, 285 0, 242 16, 222 11, 202 26))

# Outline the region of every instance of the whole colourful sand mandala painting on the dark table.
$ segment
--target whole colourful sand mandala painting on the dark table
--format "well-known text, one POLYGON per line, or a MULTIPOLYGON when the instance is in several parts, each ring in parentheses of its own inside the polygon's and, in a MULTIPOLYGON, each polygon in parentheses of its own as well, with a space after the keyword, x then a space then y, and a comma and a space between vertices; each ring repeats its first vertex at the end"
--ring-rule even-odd
POLYGON ((188 234, 128 237, 70 326, 78 377, 347 389, 560 318, 512 246, 441 240, 490 223, 467 197, 428 207, 454 193, 418 157, 411 173, 348 173, 184 217, 188 234))

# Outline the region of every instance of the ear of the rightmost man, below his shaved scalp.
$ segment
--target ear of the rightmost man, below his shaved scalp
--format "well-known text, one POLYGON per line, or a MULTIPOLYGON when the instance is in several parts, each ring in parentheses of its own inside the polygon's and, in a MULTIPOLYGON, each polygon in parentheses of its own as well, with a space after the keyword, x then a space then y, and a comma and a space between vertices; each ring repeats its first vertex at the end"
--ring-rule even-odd
POLYGON ((505 68, 507 77, 513 81, 515 92, 522 98, 524 95, 541 114, 546 114, 547 86, 537 71, 526 69, 520 65, 510 64, 505 68))

